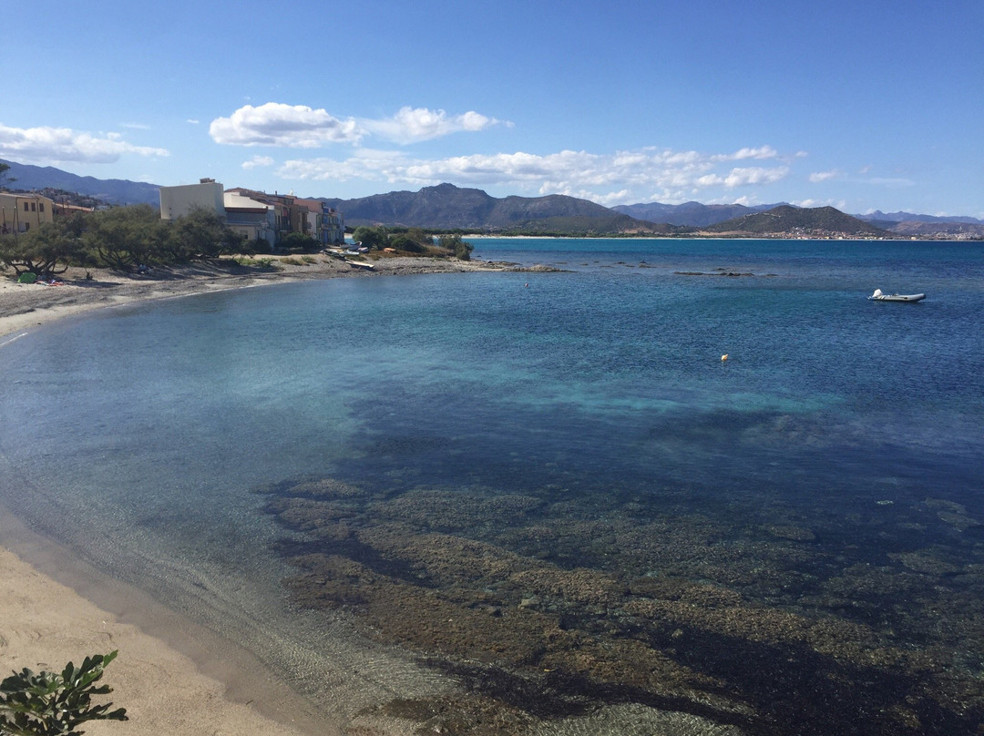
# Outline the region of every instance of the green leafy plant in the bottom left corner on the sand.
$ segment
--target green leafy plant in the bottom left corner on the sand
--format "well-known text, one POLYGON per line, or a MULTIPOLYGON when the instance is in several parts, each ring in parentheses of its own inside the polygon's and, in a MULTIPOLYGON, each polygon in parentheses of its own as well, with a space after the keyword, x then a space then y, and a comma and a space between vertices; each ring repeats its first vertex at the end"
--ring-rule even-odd
POLYGON ((25 667, 0 682, 0 734, 7 736, 80 736, 76 726, 87 720, 128 720, 126 708, 109 710, 111 703, 92 705, 93 695, 106 695, 108 685, 96 685, 116 651, 93 654, 76 667, 69 662, 61 674, 25 667))

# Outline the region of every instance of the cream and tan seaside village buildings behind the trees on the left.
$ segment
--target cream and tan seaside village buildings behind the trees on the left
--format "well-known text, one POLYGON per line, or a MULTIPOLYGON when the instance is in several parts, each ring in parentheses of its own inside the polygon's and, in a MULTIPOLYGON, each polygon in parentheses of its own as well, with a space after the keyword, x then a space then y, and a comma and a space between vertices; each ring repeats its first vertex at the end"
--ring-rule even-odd
MULTIPOLYGON (((225 190, 215 179, 160 187, 163 219, 189 215, 196 209, 215 213, 233 232, 245 236, 247 242, 266 242, 268 247, 264 250, 276 251, 280 240, 291 232, 312 237, 324 247, 342 245, 345 241, 341 213, 321 200, 241 187, 225 190)), ((55 215, 70 215, 80 210, 85 208, 55 203, 38 194, 0 192, 0 232, 27 232, 53 221, 55 215)))

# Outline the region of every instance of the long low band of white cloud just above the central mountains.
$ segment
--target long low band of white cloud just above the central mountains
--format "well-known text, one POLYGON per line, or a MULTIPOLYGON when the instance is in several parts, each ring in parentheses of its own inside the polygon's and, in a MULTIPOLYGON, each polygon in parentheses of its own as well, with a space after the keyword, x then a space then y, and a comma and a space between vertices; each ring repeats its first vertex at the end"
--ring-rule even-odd
MULTIPOLYGON (((743 151, 773 157, 769 147, 743 151)), ((277 168, 277 175, 315 181, 368 179, 404 186, 445 181, 462 186, 505 185, 531 194, 569 194, 615 205, 683 202, 699 193, 714 196, 715 190, 723 195, 740 187, 768 185, 789 174, 786 165, 727 168, 726 162, 734 161, 736 155, 646 148, 615 153, 473 153, 424 159, 401 152, 358 150, 344 159, 288 160, 277 168)))

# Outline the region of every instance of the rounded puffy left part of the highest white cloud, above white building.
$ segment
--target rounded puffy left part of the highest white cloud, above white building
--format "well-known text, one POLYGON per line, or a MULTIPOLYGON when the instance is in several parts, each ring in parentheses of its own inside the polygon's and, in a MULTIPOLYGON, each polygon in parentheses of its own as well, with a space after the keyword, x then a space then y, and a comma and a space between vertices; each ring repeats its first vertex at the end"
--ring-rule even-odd
POLYGON ((324 109, 267 102, 244 105, 209 126, 215 143, 315 149, 330 143, 358 143, 365 135, 352 118, 339 120, 324 109))

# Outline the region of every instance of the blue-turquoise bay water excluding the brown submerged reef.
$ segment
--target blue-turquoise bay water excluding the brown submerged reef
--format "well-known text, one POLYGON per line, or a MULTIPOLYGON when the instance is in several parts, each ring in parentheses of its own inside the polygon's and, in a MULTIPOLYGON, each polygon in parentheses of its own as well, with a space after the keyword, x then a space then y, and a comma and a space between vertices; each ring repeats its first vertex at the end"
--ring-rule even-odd
MULTIPOLYGON (((888 569, 925 549, 962 575, 984 563, 980 244, 483 239, 475 256, 566 271, 245 289, 4 346, 0 500, 229 636, 262 649, 277 632, 290 653, 268 660, 315 694, 318 673, 338 669, 322 657, 354 661, 374 644, 354 638, 342 654, 326 640, 343 622, 312 624, 279 584, 292 568, 277 540, 303 534, 256 491, 299 478, 388 500, 563 498, 582 521, 633 505, 647 520, 699 516, 729 544, 750 528, 808 528, 812 556, 782 563, 796 596, 742 588, 804 616, 832 615, 804 601, 851 565, 888 569), (876 287, 928 297, 867 301, 876 287), (899 531, 912 526, 918 540, 899 531)), ((455 533, 564 569, 655 576, 663 562, 455 533)), ((884 613, 866 611, 836 615, 874 626, 884 613)), ((405 672, 364 667, 386 681, 366 700, 444 687, 398 650, 385 656, 405 672)))

